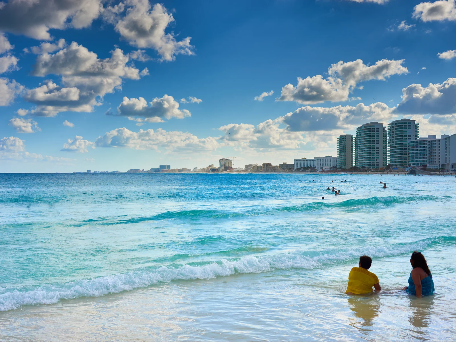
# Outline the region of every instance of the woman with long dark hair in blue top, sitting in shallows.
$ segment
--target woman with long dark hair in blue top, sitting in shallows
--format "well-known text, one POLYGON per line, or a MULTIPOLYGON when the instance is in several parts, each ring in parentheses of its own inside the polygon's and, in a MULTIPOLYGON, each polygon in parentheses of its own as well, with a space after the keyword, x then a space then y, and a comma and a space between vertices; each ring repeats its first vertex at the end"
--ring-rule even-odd
POLYGON ((410 257, 412 272, 409 276, 409 286, 405 286, 409 294, 416 295, 420 298, 423 295, 432 295, 434 293, 434 280, 430 274, 426 259, 420 252, 413 252, 410 257))

